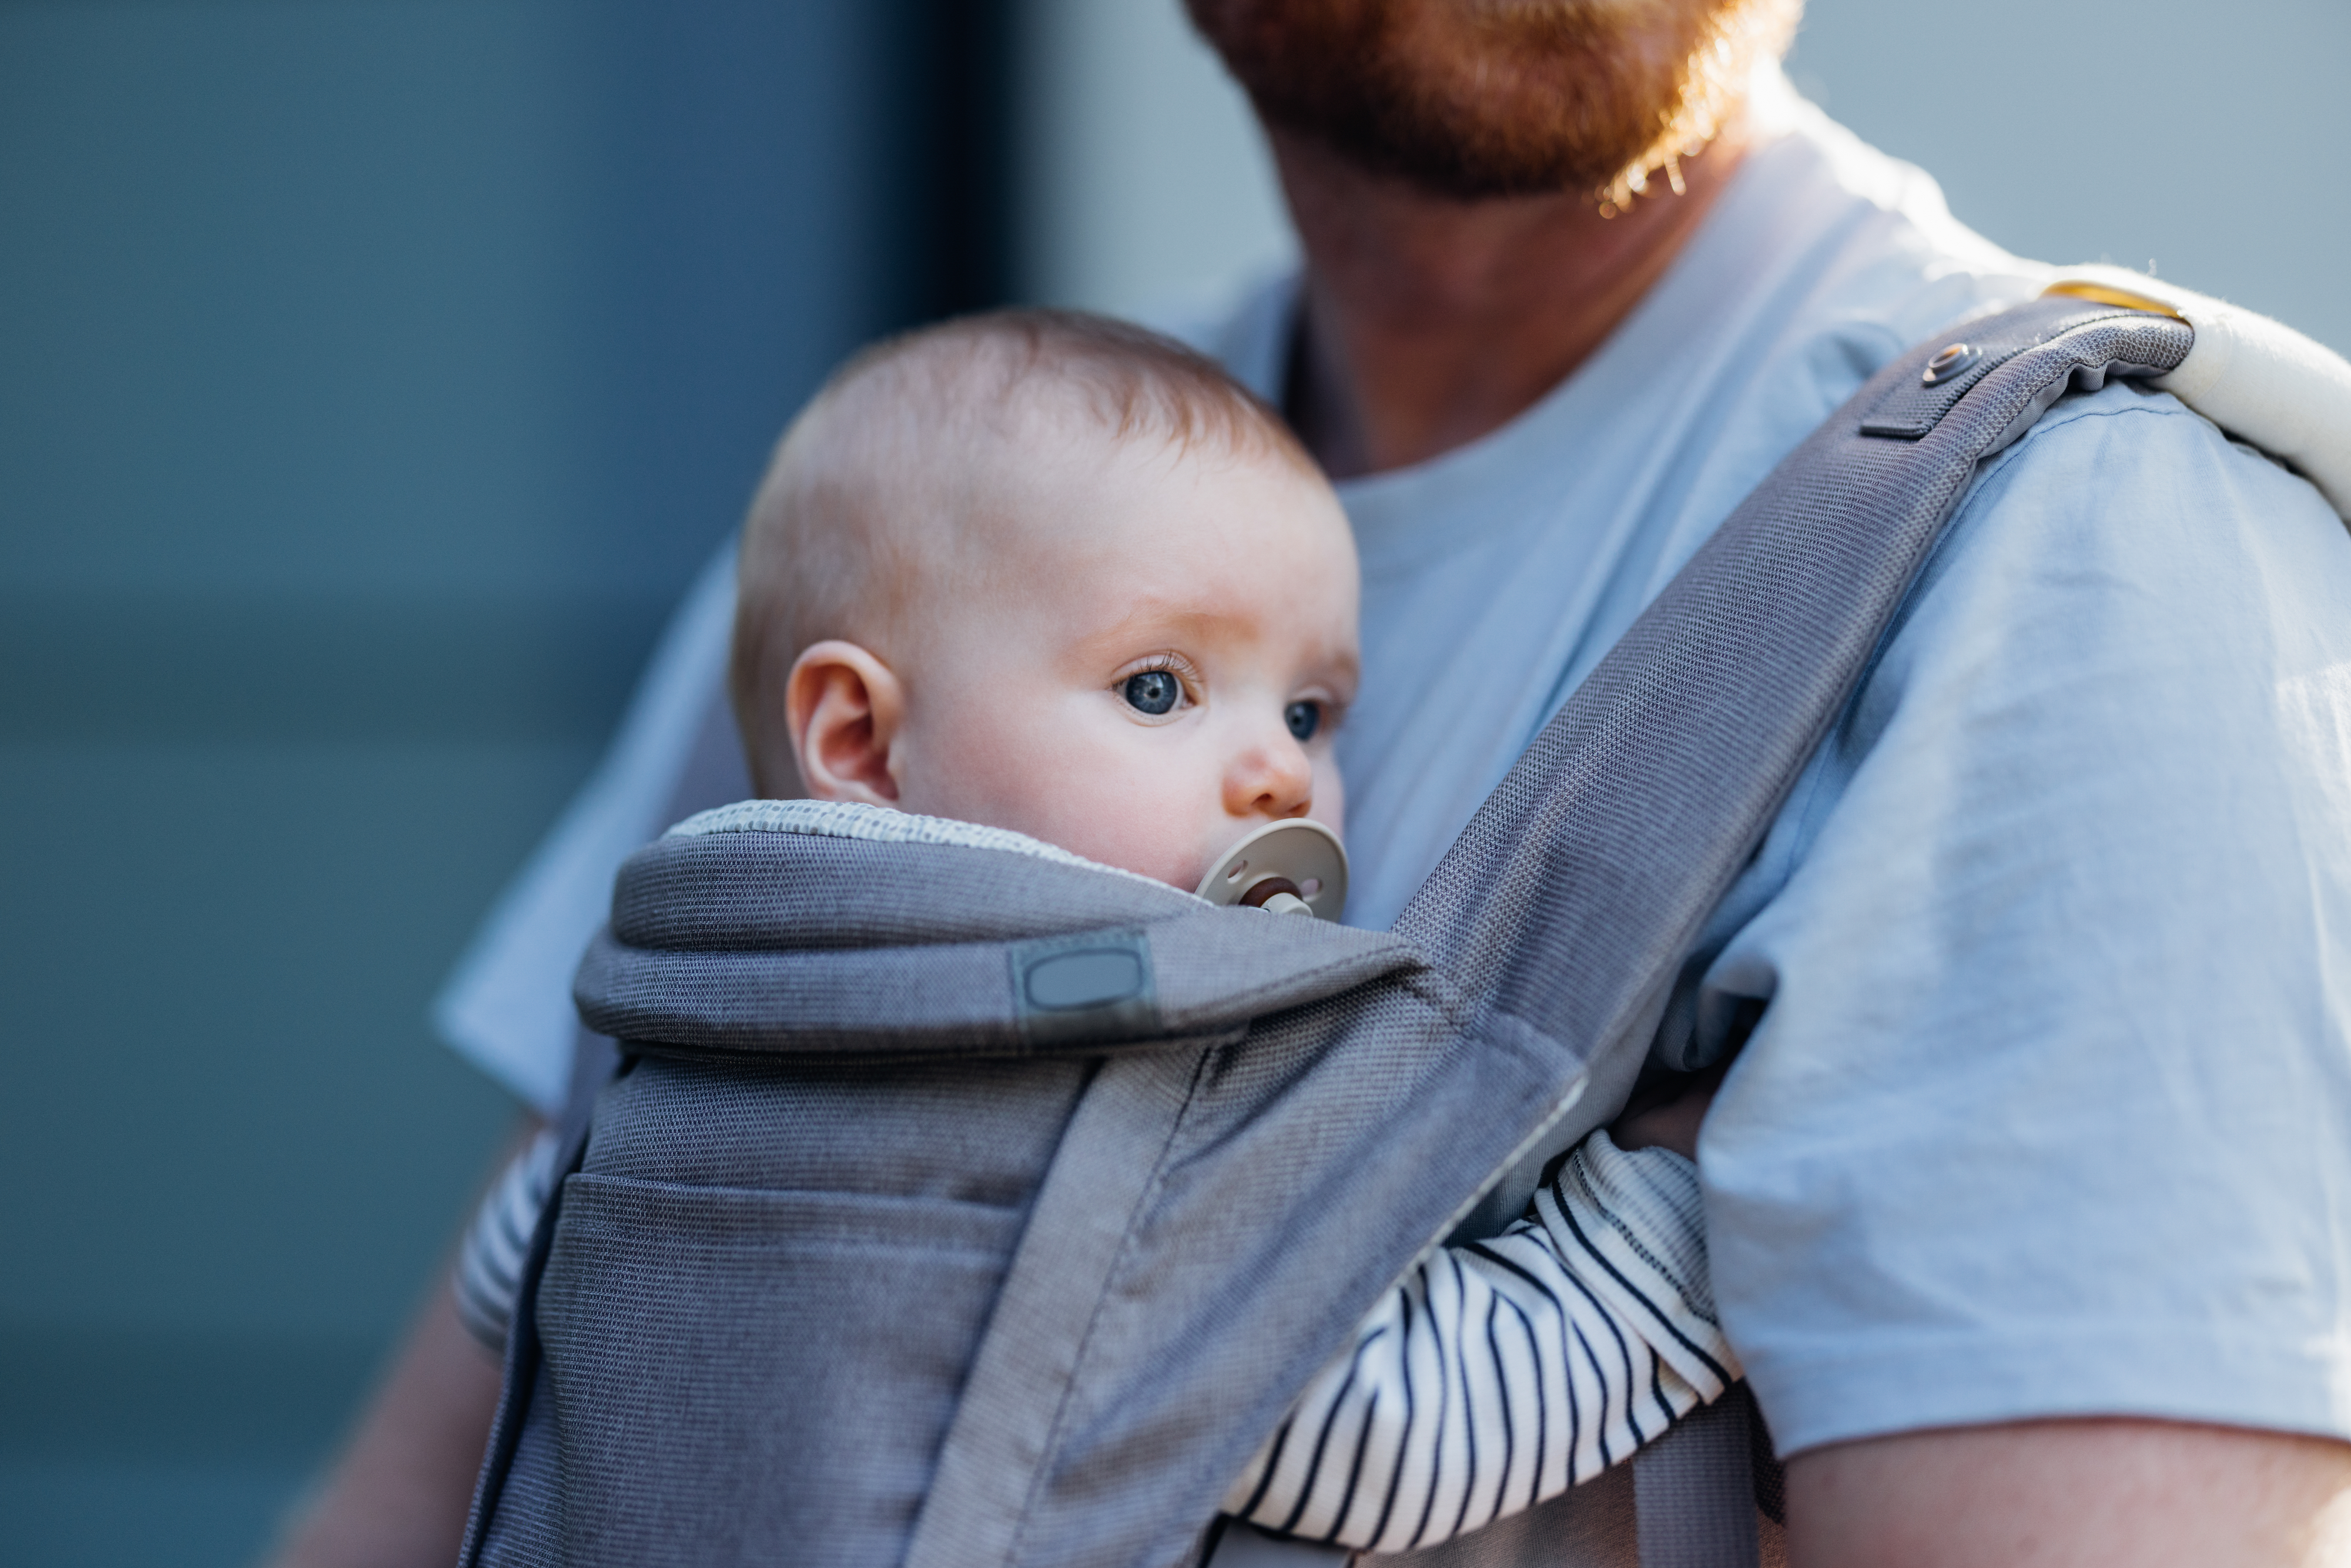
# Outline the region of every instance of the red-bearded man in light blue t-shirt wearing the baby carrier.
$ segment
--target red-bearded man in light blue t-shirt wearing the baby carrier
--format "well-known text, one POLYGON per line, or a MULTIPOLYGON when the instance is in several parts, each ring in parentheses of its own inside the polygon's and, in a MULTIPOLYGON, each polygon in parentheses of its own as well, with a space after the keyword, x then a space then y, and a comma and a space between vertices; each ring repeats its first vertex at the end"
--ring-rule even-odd
MULTIPOLYGON (((1380 926, 1780 456, 2045 273, 1787 92, 1796 0, 1190 9, 1305 268, 1187 336, 1342 480, 1380 926)), ((2351 1561, 2346 595, 2302 480, 2163 395, 2067 402, 1690 954, 1655 1060, 1737 1051, 1700 1166, 1791 1563, 2351 1561)), ((715 703, 724 602, 649 701, 715 703)), ((614 858, 731 799, 679 741, 616 764, 656 783, 614 858)), ((440 1309, 296 1556, 397 1561, 393 1512, 444 1554, 494 1387, 440 1309)), ((1448 1561, 1625 1561, 1625 1507, 1448 1561)))

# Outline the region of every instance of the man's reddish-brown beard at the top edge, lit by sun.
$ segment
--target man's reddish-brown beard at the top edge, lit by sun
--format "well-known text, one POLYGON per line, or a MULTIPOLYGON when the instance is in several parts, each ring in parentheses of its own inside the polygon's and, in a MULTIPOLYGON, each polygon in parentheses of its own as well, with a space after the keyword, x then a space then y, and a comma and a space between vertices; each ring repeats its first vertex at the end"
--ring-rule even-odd
POLYGON ((1460 200, 1622 205, 1702 148, 1801 0, 1185 0, 1258 113, 1460 200))

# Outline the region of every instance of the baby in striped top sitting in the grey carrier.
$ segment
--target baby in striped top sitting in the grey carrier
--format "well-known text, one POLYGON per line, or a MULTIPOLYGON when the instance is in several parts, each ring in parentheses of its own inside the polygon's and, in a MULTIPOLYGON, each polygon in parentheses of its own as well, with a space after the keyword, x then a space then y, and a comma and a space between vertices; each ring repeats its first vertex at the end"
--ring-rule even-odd
MULTIPOLYGON (((731 682, 762 795, 1011 827, 1178 889, 1262 823, 1342 827, 1357 670, 1354 545, 1312 458, 1218 367, 1107 320, 865 353, 743 534, 731 682)), ((1429 1544, 1660 1436, 1737 1378, 1697 1213, 1688 1159, 1594 1133, 1526 1220, 1389 1293, 1227 1512, 1429 1544)))

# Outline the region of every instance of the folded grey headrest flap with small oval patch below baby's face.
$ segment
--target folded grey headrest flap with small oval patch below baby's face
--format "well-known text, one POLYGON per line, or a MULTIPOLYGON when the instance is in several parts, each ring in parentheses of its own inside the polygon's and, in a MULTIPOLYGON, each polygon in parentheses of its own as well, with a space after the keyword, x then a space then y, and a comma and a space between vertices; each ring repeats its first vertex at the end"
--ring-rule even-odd
POLYGON ((1239 1037, 1422 966, 1013 832, 743 802, 630 856, 574 999, 651 1053, 1030 1056, 1239 1037))

